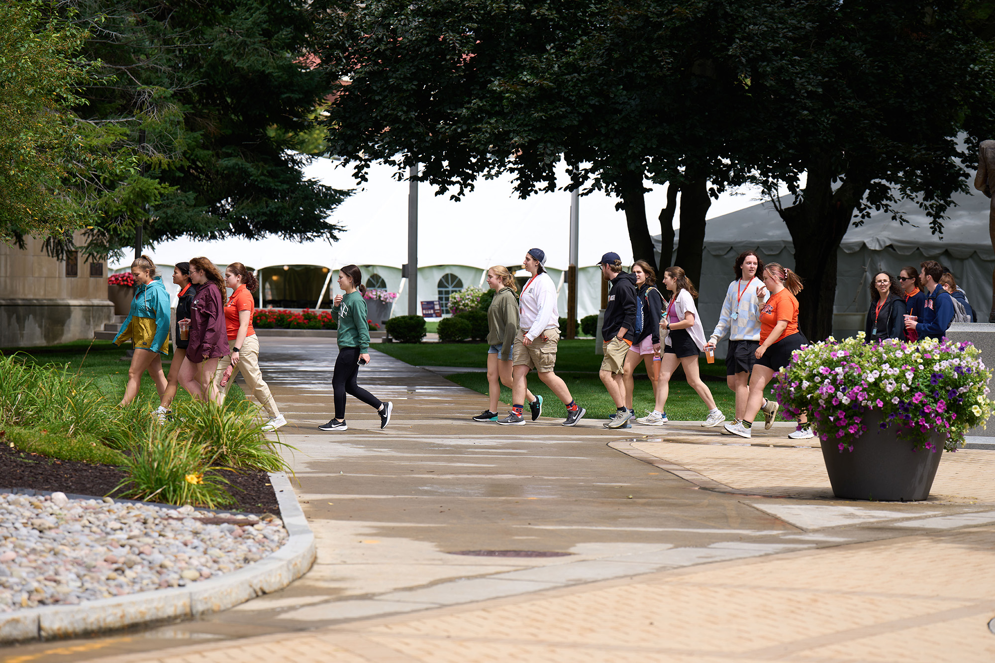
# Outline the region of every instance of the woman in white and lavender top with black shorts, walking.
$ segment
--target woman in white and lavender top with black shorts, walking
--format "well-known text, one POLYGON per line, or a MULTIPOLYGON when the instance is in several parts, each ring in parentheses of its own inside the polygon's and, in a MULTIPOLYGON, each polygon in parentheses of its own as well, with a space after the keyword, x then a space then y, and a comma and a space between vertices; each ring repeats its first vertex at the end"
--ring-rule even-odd
POLYGON ((678 365, 684 367, 688 384, 708 407, 708 416, 702 426, 711 428, 725 421, 722 411, 715 407, 708 385, 701 381, 698 373, 698 354, 704 349, 704 330, 697 315, 695 284, 680 267, 668 267, 664 271, 664 287, 672 293, 670 302, 660 326, 661 335, 667 332, 664 340, 666 348, 660 361, 660 377, 657 380, 656 405, 647 416, 636 419, 647 426, 662 426, 667 421, 667 397, 670 395, 671 377, 678 365))

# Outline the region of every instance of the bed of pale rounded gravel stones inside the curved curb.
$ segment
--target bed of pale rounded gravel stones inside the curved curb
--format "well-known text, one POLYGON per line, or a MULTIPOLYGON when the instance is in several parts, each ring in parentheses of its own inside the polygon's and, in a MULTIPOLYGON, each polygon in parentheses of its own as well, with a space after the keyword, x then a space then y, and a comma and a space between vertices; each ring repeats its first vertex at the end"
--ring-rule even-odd
POLYGON ((269 514, 0 494, 0 612, 185 586, 257 561, 287 538, 269 514))

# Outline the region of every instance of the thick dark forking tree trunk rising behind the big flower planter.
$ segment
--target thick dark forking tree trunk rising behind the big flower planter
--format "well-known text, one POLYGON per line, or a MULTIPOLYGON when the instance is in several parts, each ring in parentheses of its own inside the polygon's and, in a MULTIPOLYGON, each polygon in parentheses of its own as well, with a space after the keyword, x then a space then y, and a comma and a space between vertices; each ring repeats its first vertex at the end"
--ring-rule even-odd
POLYGON ((798 294, 798 327, 809 340, 823 340, 833 332, 837 254, 869 184, 848 173, 833 191, 837 173, 831 164, 829 157, 815 159, 808 168, 804 198, 781 210, 795 247, 794 270, 804 284, 798 294))

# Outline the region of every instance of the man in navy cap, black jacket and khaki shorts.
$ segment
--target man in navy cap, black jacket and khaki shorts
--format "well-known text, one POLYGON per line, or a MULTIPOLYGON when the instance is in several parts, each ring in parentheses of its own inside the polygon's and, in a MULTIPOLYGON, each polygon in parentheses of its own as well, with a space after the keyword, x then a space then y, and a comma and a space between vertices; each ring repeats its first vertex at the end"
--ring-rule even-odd
POLYGON ((622 271, 622 260, 614 252, 603 255, 598 267, 601 268, 601 278, 611 283, 608 307, 601 325, 605 358, 601 361, 598 376, 615 403, 615 413, 604 425, 605 428, 622 428, 636 416, 626 404, 623 374, 626 358, 636 339, 637 279, 635 274, 622 271))

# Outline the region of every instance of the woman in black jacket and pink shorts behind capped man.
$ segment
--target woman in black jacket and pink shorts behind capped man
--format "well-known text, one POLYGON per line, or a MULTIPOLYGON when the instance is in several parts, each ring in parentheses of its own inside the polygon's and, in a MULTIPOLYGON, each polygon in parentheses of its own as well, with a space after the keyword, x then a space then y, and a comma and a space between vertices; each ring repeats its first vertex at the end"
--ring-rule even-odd
MULTIPOLYGON (((650 378, 652 393, 657 393, 657 377, 660 374, 660 325, 663 315, 664 297, 657 290, 657 272, 645 260, 637 260, 632 266, 636 277, 636 337, 625 355, 625 404, 635 414, 632 406, 636 388, 636 368, 639 362, 646 363, 646 374, 650 378)), ((631 428, 627 421, 623 428, 631 428)))

